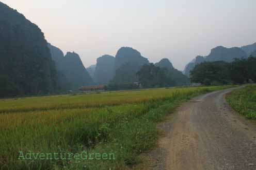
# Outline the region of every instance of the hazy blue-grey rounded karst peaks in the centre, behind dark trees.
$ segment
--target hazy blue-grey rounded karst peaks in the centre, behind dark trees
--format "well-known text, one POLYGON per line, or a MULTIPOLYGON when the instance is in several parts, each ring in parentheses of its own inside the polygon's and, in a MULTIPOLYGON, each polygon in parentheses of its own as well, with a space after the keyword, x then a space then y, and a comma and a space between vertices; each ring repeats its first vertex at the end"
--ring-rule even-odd
MULTIPOLYGON (((139 51, 131 47, 121 47, 116 57, 103 55, 97 59, 93 79, 101 85, 138 82, 137 72, 145 64, 150 63, 139 51)), ((176 85, 189 84, 189 79, 181 71, 175 69, 168 59, 162 59, 155 63, 155 66, 166 68, 176 85)))

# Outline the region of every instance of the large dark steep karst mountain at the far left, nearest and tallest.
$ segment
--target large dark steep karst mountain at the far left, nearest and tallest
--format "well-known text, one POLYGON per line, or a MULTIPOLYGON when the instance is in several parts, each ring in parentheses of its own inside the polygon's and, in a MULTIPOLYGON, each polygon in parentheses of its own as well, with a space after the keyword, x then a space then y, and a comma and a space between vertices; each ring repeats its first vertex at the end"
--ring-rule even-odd
POLYGON ((0 96, 52 92, 56 70, 40 28, 0 2, 0 96))

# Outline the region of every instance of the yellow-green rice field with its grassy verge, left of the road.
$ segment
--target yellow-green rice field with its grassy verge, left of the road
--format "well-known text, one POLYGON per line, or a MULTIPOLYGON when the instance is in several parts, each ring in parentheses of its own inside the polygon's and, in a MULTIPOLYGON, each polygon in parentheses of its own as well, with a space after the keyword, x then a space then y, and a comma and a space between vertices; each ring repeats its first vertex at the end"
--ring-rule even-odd
POLYGON ((156 122, 161 121, 182 101, 205 92, 229 87, 231 86, 160 88, 97 94, 103 95, 104 99, 101 99, 101 96, 94 96, 95 94, 77 95, 81 96, 79 98, 70 95, 26 98, 19 99, 22 104, 15 107, 14 112, 11 112, 13 102, 19 100, 0 100, 1 106, 4 104, 8 106, 4 108, 7 111, 0 114, 0 167, 1 169, 130 169, 133 164, 140 161, 138 157, 140 153, 155 145, 156 122), (122 97, 123 95, 127 95, 129 100, 122 97), (98 105, 97 97, 104 106, 98 105), (62 105, 59 107, 55 98, 58 98, 62 104, 65 100, 69 102, 66 103, 65 108, 62 105), (83 100, 86 104, 93 105, 93 102, 97 104, 93 107, 89 105, 74 107, 77 106, 77 101, 83 100), (36 104, 33 104, 33 101, 37 101, 36 104), (111 104, 108 105, 109 101, 111 104), (32 102, 32 107, 29 106, 29 102, 32 102), (48 102, 51 107, 41 109, 45 106, 44 102, 48 102), (19 108, 21 111, 18 111, 19 108), (113 153, 116 159, 18 160, 19 151, 25 154, 29 150, 32 153, 83 151, 113 153))

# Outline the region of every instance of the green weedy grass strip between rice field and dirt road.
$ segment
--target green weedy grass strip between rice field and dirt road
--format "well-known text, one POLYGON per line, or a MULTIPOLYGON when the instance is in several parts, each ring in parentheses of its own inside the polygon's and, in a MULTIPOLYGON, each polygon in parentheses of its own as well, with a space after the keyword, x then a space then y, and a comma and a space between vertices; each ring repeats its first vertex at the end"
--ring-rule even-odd
MULTIPOLYGON (((145 114, 126 117, 111 128, 108 141, 99 143, 90 150, 91 153, 114 153, 113 160, 80 160, 68 162, 56 169, 132 169, 140 163, 139 155, 153 148, 157 141, 156 123, 168 115, 180 102, 186 99, 175 98, 158 102, 159 106, 145 114), (170 103, 171 101, 171 103, 170 103)), ((83 149, 82 149, 83 150, 83 149)), ((80 152, 82 151, 80 150, 80 152)))

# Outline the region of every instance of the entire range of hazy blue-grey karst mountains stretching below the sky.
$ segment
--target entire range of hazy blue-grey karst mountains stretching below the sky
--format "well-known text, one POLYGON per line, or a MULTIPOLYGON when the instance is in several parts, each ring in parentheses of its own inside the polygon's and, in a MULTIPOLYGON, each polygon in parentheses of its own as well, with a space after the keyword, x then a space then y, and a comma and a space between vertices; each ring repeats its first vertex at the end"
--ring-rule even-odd
MULTIPOLYGON (((71 42, 72 43, 72 42, 71 42)), ((177 86, 189 85, 189 71, 204 61, 227 61, 256 55, 256 43, 241 48, 218 46, 207 56, 197 56, 184 74, 164 58, 155 66, 166 68, 177 86)), ((150 61, 131 47, 121 47, 115 56, 100 56, 95 65, 84 67, 79 54, 63 54, 47 43, 38 26, 0 3, 0 96, 38 95, 82 86, 138 82, 137 72, 150 61)))

